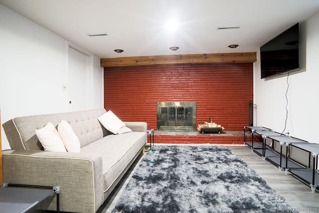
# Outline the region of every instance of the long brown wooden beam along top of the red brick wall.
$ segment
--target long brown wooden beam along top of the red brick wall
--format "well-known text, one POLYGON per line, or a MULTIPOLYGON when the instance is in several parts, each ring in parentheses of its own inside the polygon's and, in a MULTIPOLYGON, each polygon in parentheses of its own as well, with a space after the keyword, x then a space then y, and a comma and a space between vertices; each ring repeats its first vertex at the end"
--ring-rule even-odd
POLYGON ((188 64, 188 63, 253 63, 256 60, 257 60, 256 52, 156 55, 156 56, 120 57, 120 58, 101 58, 101 67, 188 64))

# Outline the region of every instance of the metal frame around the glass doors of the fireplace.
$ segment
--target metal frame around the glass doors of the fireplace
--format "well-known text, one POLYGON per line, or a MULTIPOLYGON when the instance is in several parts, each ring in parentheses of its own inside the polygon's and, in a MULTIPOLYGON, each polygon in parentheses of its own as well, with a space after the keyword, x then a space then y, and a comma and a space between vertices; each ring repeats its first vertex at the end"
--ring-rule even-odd
MULTIPOLYGON (((191 131, 196 131, 196 102, 158 102, 157 104, 157 129, 158 131, 185 131, 185 132, 191 132, 191 131), (169 107, 175 107, 174 110, 174 118, 175 120, 175 125, 174 126, 170 126, 170 125, 162 125, 163 120, 167 119, 167 123, 168 123, 168 119, 169 117, 167 116, 166 118, 161 116, 161 108, 163 107, 167 107, 166 108, 166 113, 168 114, 169 111, 169 107), (180 107, 184 107, 183 112, 182 112, 182 118, 183 121, 186 120, 187 114, 189 116, 189 113, 187 112, 186 114, 186 110, 185 107, 190 107, 191 108, 191 126, 178 126, 177 124, 180 123, 178 122, 178 115, 177 115, 177 108, 180 107)), ((179 117, 180 118, 180 117, 179 117)))

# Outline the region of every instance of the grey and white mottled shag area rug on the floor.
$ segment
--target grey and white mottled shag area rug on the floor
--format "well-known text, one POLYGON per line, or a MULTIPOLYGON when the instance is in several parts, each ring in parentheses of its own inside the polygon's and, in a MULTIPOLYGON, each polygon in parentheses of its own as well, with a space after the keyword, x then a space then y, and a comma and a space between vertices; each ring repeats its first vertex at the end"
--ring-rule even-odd
POLYGON ((297 213, 224 146, 156 146, 112 213, 297 213))

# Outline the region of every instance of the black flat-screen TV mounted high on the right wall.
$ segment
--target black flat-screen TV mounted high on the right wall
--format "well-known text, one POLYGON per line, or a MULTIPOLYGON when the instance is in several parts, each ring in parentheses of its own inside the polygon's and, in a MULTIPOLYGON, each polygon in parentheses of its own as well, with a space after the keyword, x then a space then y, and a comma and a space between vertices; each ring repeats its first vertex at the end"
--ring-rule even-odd
POLYGON ((260 47, 261 78, 299 70, 299 23, 260 47))

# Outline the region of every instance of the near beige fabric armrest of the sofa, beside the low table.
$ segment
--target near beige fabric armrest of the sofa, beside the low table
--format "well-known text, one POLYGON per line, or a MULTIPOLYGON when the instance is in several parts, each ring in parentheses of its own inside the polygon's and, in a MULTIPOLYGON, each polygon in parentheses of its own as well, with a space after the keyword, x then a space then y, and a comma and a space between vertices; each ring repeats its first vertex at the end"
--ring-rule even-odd
MULTIPOLYGON (((60 186, 62 212, 95 213, 103 203, 102 157, 99 155, 5 150, 2 166, 4 183, 60 186)), ((43 210, 56 210, 54 196, 38 206, 43 210)))

